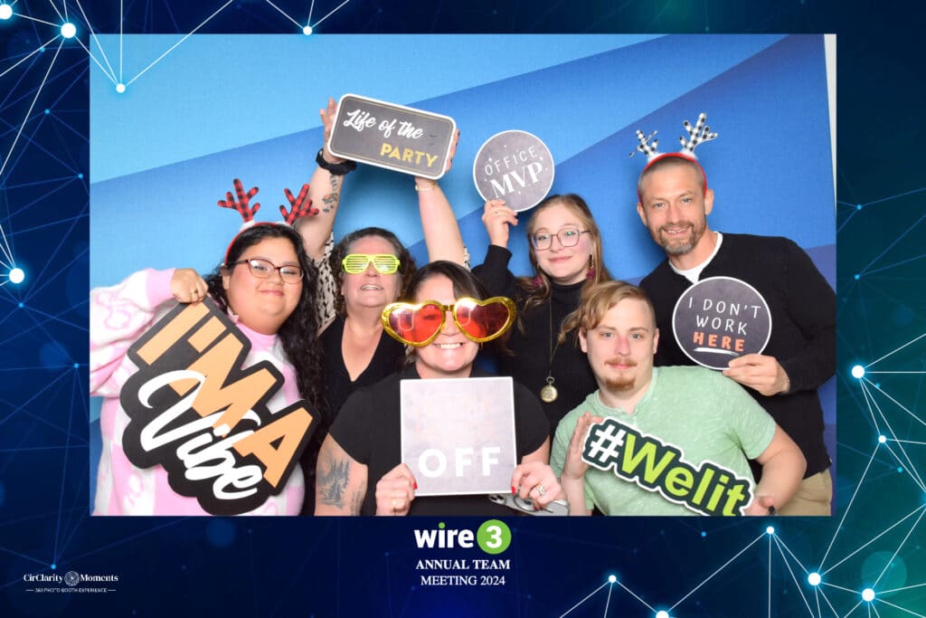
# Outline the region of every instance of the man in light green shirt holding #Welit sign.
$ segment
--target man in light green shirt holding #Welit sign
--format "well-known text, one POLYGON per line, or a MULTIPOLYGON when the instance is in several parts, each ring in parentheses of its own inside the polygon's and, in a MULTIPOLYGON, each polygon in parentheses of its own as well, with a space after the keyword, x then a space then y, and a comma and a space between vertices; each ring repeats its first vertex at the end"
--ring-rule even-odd
POLYGON ((740 385, 701 367, 653 366, 659 333, 640 288, 587 288, 561 336, 573 331, 598 390, 554 439, 550 465, 570 514, 766 515, 795 493, 807 462, 740 385), (762 465, 758 485, 747 459, 762 465))

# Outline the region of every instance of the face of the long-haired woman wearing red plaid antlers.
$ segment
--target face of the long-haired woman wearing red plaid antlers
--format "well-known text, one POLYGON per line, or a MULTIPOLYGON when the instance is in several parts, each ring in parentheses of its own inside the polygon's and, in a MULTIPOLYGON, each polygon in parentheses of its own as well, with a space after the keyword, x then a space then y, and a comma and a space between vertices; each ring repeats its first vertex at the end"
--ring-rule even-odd
MULTIPOLYGON (((274 266, 299 267, 295 247, 286 238, 266 238, 244 249, 238 260, 254 258, 266 259, 274 266)), ((267 279, 260 279, 251 274, 246 263, 222 270, 222 286, 229 309, 238 315, 244 326, 261 334, 276 334, 280 330, 299 304, 302 285, 301 281, 283 283, 277 270, 267 279)))

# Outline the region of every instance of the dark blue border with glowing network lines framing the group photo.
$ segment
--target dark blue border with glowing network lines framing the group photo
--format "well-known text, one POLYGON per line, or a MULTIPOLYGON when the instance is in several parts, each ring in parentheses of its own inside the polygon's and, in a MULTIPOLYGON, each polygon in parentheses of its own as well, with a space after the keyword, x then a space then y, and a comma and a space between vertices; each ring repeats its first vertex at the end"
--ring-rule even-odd
MULTIPOLYGON (((511 570, 497 587, 420 586, 419 559, 484 557, 478 550, 416 549, 413 530, 437 521, 91 518, 88 272, 91 259, 105 259, 88 250, 88 76, 98 68, 74 41, 59 49, 56 24, 67 9, 88 45, 87 21, 96 32, 118 33, 121 5, 124 32, 179 38, 224 6, 197 33, 295 33, 283 13, 306 19, 313 4, 313 14, 323 16, 341 3, 19 0, 14 15, 0 19, 0 615, 926 614, 926 338, 918 339, 926 333, 926 69, 921 15, 893 4, 350 0, 316 29, 836 33, 834 517, 511 518, 513 541, 503 555, 511 570), (14 266, 25 274, 21 284, 8 279, 14 266), (865 380, 850 376, 856 364, 868 367, 865 380), (766 533, 770 524, 773 535, 766 533), (818 590, 807 585, 807 572, 820 563, 818 590), (24 581, 69 571, 119 579, 106 585, 111 592, 87 594, 29 592, 35 585, 24 581), (617 583, 607 584, 611 574, 617 583), (869 586, 876 594, 870 603, 860 597, 869 586)), ((685 57, 678 67, 685 70, 685 57)), ((427 76, 409 69, 409 79, 427 76)), ((216 93, 245 95, 246 84, 216 93)), ((280 96, 317 105, 299 99, 298 84, 280 96)), ((126 145, 125 157, 144 147, 126 145)), ((800 152, 794 165, 801 165, 800 152)), ((179 198, 178 191, 166 187, 165 201, 179 198)), ((131 195, 125 208, 132 208, 131 195)))

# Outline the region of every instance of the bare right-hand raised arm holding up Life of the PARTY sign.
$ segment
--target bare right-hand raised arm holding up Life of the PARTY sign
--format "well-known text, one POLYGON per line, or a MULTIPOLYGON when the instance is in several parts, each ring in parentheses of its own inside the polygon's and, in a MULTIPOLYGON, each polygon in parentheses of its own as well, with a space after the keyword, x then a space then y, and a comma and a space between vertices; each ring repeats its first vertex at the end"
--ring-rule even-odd
MULTIPOLYGON (((459 137, 460 133, 457 131, 454 144, 450 148, 450 156, 447 158, 446 171, 450 171, 453 166, 459 137)), ((428 259, 448 259, 469 267, 469 255, 463 246, 457 215, 447 201, 441 185, 429 178, 416 176, 415 190, 418 192, 421 229, 424 231, 424 244, 428 247, 428 259)))

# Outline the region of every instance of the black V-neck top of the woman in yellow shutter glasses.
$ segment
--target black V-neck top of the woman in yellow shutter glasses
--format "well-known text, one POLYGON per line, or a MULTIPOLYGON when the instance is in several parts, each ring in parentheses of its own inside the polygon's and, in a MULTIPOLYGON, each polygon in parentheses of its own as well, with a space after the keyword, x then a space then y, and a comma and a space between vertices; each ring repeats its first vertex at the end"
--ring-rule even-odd
POLYGON ((325 405, 321 407, 322 417, 319 419, 319 426, 300 460, 306 477, 306 500, 302 507, 303 515, 311 515, 315 511, 315 464, 319 459, 321 443, 328 435, 328 428, 332 426, 344 401, 358 388, 375 385, 384 377, 398 371, 402 359, 405 358, 405 346, 383 331, 380 335, 380 343, 377 344, 373 357, 369 359, 369 365, 357 376, 357 380, 351 381, 350 373, 344 365, 344 354, 341 349, 344 325, 344 318, 338 316, 320 337, 324 354, 325 384, 328 389, 324 397, 325 405))

